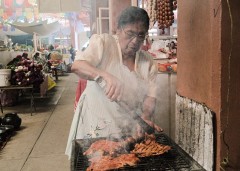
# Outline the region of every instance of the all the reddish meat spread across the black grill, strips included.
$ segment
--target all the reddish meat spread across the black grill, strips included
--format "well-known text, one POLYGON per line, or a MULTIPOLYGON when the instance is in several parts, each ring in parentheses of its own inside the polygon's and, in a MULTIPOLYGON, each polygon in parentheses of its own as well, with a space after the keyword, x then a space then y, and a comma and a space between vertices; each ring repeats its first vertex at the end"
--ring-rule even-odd
POLYGON ((135 166, 141 157, 161 155, 170 146, 161 145, 155 141, 154 136, 146 136, 145 140, 139 143, 133 138, 125 141, 98 140, 91 144, 83 154, 89 158, 90 166, 87 171, 105 171, 122 168, 124 166, 135 166), (126 150, 129 143, 135 143, 133 150, 126 150))

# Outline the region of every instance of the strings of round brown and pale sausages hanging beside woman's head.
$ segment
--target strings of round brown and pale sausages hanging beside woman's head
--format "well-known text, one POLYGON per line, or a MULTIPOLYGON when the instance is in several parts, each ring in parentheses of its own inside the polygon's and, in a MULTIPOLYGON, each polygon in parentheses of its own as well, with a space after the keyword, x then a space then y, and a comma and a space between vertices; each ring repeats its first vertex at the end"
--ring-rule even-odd
POLYGON ((158 28, 165 33, 165 29, 174 23, 173 10, 177 9, 177 0, 147 1, 147 12, 150 17, 150 28, 157 22, 158 28))

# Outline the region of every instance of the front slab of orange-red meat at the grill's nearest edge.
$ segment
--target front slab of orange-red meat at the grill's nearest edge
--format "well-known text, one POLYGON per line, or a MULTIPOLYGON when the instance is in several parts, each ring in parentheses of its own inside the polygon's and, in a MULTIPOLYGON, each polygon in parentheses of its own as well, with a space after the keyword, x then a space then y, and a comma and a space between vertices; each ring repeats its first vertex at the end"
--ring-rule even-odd
POLYGON ((117 157, 101 156, 91 158, 91 165, 87 171, 105 171, 128 166, 134 166, 139 162, 135 154, 121 154, 117 157))

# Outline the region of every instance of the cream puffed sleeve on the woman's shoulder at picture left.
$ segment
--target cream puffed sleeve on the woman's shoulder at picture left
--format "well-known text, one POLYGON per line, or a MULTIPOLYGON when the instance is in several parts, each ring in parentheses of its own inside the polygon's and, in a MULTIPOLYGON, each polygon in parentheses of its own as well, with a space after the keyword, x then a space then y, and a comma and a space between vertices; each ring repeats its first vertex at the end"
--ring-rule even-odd
POLYGON ((94 34, 89 40, 89 46, 84 51, 77 51, 75 60, 84 60, 97 66, 103 56, 104 37, 94 34))

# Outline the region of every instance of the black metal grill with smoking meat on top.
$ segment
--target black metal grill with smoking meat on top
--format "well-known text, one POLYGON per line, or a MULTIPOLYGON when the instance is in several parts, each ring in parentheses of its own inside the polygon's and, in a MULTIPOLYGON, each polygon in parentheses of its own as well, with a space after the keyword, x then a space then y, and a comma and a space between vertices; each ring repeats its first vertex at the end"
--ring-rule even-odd
MULTIPOLYGON (((72 153, 72 171, 85 171, 90 165, 87 157, 83 155, 90 145, 99 139, 75 140, 72 153)), ((171 150, 159 156, 140 158, 136 166, 125 166, 115 169, 118 171, 205 171, 192 157, 183 151, 165 134, 156 134, 156 141, 160 144, 170 145, 171 150)))

